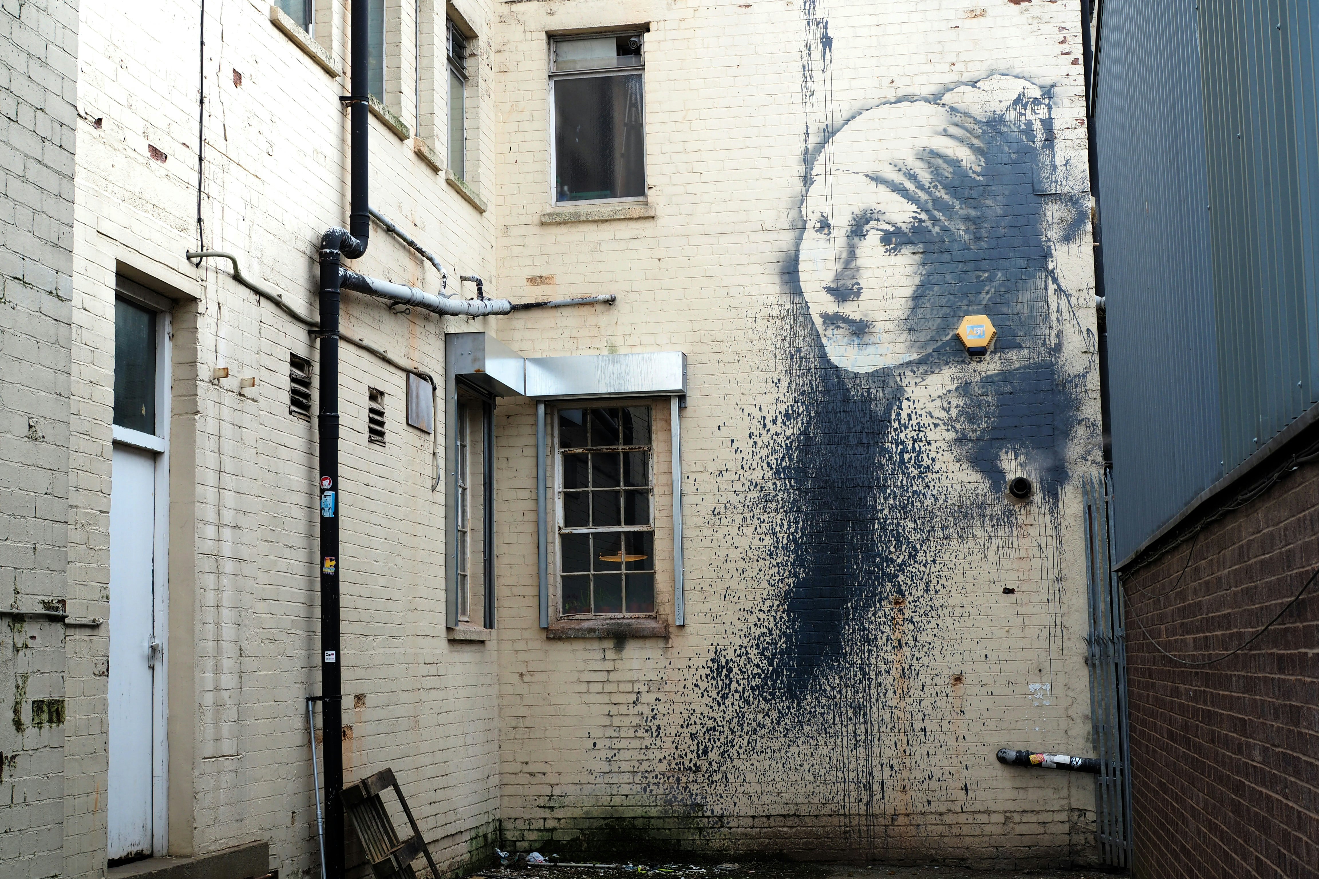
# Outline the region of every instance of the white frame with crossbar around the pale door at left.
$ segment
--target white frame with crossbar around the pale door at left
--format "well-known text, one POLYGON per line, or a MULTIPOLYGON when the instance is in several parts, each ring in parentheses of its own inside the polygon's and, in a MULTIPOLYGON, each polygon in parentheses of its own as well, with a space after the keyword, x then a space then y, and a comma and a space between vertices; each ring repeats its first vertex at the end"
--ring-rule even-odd
POLYGON ((156 502, 152 548, 152 634, 160 644, 152 667, 152 855, 169 851, 169 426, 174 383, 174 302, 117 275, 115 298, 156 312, 156 434, 112 424, 113 443, 154 452, 156 502))

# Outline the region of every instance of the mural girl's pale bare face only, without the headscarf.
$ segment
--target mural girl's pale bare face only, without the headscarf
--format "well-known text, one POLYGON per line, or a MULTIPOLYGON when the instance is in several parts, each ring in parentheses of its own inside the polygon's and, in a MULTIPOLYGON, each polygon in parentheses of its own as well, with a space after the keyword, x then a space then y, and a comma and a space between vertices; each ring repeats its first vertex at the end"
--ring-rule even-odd
POLYGON ((802 213, 798 273, 830 360, 864 373, 919 354, 909 324, 929 217, 882 183, 842 169, 813 182, 802 213))

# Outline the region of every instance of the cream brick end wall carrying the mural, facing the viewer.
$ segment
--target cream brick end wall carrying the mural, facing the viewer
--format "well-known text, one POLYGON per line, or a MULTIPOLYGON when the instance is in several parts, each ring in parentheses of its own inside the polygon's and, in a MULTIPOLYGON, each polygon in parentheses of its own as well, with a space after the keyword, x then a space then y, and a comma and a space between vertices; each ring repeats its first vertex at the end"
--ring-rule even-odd
MULTIPOLYGON (((1018 741, 1088 749, 1084 553, 1068 480, 1099 467, 1091 244, 1076 228, 1086 210, 1075 195, 1086 190, 1079 21, 1066 3, 506 7, 496 57, 501 282, 516 290, 525 278, 534 294, 551 275, 575 295, 620 298, 599 323, 533 312, 503 324, 501 337, 551 354, 681 349, 690 376, 685 627, 667 640, 546 642, 533 559, 510 565, 514 548, 505 550, 506 839, 979 863, 1088 857, 1092 781, 1013 775, 993 759, 1018 741), (629 25, 648 28, 656 216, 547 223, 545 34, 629 25), (1022 348, 1046 347, 1046 382, 1071 397, 1031 399, 1010 378, 1030 369, 1022 348, 995 354, 1008 366, 968 366, 962 354, 963 365, 923 382, 918 370, 898 373, 906 394, 830 378, 794 253, 827 136, 876 105, 936 101, 1004 74, 1045 95, 1055 175, 1029 190, 1046 203, 1050 314, 1022 348), (991 468, 959 453, 960 441, 977 440, 950 441, 958 427, 939 411, 940 395, 963 383, 1002 407, 985 432, 997 438, 991 468), (885 395, 917 405, 859 402, 885 395), (847 434, 888 449, 859 461, 847 434), (1043 441, 1014 443, 1033 434, 1043 441), (801 443, 823 455, 794 457, 801 443), (856 482, 874 482, 860 490, 813 464, 873 467, 856 482), (1029 505, 1002 493, 1017 473, 1039 485, 1029 505), (838 499, 811 501, 813 490, 838 499), (873 506, 839 513, 857 499, 873 506), (959 525, 967 510, 969 525, 959 525), (863 521, 896 536, 831 538, 813 519, 820 531, 863 521), (840 551, 872 559, 840 568, 828 557, 840 551), (827 619, 810 619, 811 601, 834 602, 827 619)), ((977 195, 991 198, 985 183, 977 195)), ((524 448, 529 424, 526 409, 513 407, 506 430, 524 448)), ((530 465, 504 476, 505 532, 533 515, 533 486, 530 465)))

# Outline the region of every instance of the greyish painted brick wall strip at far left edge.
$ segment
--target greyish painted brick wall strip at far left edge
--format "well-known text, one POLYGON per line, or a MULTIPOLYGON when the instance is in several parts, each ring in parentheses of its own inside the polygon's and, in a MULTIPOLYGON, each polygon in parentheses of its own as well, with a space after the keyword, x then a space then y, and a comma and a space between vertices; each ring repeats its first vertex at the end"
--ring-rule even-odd
MULTIPOLYGON (((78 9, 0 3, 0 606, 67 594, 78 9)), ((0 617, 0 865, 59 875, 65 631, 0 617)))

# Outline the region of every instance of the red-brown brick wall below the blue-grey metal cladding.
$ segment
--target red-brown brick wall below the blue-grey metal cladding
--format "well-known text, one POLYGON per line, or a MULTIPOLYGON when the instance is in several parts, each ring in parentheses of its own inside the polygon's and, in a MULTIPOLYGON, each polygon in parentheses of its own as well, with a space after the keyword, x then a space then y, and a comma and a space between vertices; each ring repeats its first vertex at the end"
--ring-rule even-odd
POLYGON ((1128 594, 1134 875, 1319 876, 1319 465, 1134 571, 1128 594), (1174 584, 1177 588, 1174 589, 1174 584))

